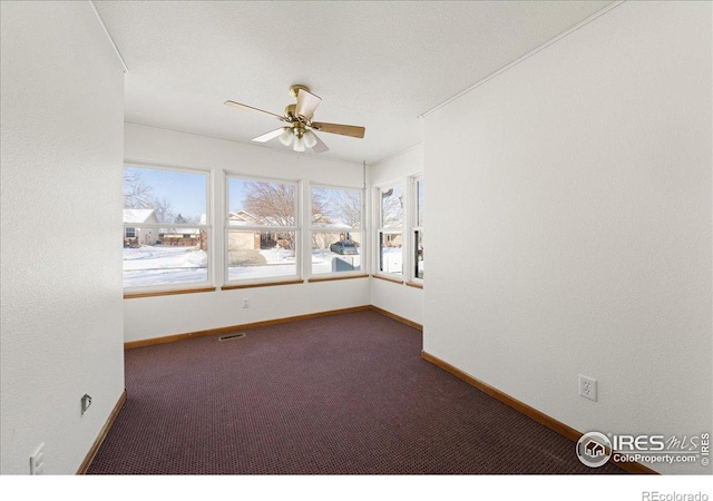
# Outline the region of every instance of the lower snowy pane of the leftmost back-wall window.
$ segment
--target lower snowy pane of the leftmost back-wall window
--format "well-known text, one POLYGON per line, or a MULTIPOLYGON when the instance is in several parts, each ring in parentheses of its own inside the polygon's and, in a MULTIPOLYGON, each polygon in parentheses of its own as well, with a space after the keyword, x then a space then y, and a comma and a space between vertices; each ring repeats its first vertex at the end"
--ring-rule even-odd
MULTIPOLYGON (((205 228, 134 228, 124 238, 124 286, 164 286, 208 281, 205 228)), ((125 232, 126 234, 126 232, 125 232)))

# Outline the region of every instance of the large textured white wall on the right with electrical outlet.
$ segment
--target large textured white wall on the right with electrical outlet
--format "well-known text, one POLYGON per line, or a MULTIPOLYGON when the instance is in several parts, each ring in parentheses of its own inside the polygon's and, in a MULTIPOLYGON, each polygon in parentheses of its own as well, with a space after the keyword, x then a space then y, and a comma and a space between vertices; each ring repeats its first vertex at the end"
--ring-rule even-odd
POLYGON ((623 3, 427 117, 427 352, 582 432, 712 431, 711 19, 623 3))

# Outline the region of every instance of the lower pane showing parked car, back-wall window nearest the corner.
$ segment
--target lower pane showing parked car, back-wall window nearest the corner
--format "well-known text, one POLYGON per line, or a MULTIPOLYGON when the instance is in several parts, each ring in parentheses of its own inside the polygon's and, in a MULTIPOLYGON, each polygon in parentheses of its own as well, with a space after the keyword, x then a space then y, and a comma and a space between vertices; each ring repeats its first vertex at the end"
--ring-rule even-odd
POLYGON ((312 232, 312 274, 361 269, 361 232, 312 232))

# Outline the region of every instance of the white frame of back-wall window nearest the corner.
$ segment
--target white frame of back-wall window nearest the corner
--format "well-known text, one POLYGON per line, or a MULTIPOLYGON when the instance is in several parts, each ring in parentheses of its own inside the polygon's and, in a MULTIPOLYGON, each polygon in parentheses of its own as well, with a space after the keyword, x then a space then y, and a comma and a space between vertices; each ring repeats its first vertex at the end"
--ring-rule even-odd
POLYGON ((338 186, 338 185, 330 185, 330 184, 324 184, 324 183, 314 183, 314 181, 310 181, 307 184, 309 187, 309 197, 306 200, 306 207, 305 207, 305 215, 309 215, 310 218, 310 223, 309 223, 309 229, 305 232, 305 238, 309 240, 305 243, 305 249, 309 249, 310 252, 306 253, 305 255, 309 254, 309 259, 305 257, 306 259, 306 264, 305 264, 305 271, 309 274, 310 279, 312 281, 328 281, 328 279, 334 279, 334 278, 352 278, 355 276, 364 276, 364 274, 367 273, 367 263, 368 263, 368 248, 369 246, 367 245, 367 229, 365 229, 365 198, 367 198, 367 194, 364 191, 363 187, 356 188, 353 186, 338 186), (344 228, 338 228, 338 227, 329 227, 329 226, 321 226, 321 227, 315 227, 314 226, 314 218, 313 218, 313 214, 312 214, 312 190, 314 188, 324 188, 324 189, 334 189, 334 190, 343 190, 343 191, 355 191, 359 194, 360 197, 360 204, 359 204, 359 227, 358 228, 352 228, 353 232, 351 233, 359 233, 361 235, 361 245, 360 245, 360 253, 359 253, 359 261, 360 261, 360 269, 354 269, 351 272, 330 272, 330 273, 313 273, 312 272, 312 236, 314 235, 314 233, 341 233, 344 232, 344 228))

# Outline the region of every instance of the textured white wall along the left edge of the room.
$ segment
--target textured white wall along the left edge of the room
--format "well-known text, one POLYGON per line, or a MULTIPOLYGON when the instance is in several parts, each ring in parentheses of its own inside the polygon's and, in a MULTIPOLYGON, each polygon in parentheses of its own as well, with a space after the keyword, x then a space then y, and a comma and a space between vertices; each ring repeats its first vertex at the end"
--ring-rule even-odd
POLYGON ((89 2, 1 6, 1 471, 71 474, 124 390, 124 77, 89 2))

